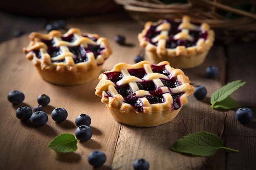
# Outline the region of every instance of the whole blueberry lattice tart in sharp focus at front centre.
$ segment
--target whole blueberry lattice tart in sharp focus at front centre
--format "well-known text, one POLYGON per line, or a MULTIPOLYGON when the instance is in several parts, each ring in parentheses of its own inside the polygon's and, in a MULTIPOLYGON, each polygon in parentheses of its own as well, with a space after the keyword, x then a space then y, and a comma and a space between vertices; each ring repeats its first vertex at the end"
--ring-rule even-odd
POLYGON ((168 62, 119 63, 99 75, 95 94, 119 122, 151 127, 174 119, 194 93, 189 77, 168 62))

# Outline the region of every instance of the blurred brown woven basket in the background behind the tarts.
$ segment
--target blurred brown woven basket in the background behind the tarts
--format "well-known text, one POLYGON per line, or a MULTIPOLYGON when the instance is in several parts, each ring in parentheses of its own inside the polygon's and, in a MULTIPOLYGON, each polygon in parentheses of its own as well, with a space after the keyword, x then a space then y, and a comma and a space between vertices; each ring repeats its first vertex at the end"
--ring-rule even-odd
MULTIPOLYGON (((193 22, 207 22, 219 38, 243 37, 256 39, 256 13, 234 8, 240 2, 256 7, 255 0, 187 0, 187 3, 164 4, 160 0, 115 0, 139 24, 162 18, 182 18, 189 15, 193 22), (236 18, 227 18, 220 12, 236 18), (223 37, 225 35, 225 37, 223 37)), ((217 38, 218 38, 217 37, 217 38)))

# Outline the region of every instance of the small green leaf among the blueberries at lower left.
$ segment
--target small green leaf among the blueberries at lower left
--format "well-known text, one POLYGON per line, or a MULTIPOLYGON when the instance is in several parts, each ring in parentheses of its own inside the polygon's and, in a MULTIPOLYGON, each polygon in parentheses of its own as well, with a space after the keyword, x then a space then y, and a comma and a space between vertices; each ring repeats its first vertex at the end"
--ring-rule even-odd
POLYGON ((55 137, 49 144, 56 152, 74 152, 77 149, 77 139, 70 133, 63 133, 55 137))

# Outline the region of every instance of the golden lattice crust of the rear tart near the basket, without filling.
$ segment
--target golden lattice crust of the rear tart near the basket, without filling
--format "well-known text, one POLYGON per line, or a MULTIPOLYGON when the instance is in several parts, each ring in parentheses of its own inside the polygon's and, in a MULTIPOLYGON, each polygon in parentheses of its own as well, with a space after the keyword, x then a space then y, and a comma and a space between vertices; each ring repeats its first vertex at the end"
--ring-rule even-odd
POLYGON ((189 30, 207 31, 208 35, 205 40, 200 38, 195 46, 177 46, 175 49, 167 49, 165 47, 166 39, 168 38, 168 30, 170 28, 171 24, 163 23, 163 20, 159 20, 158 22, 146 22, 144 29, 138 34, 139 45, 145 48, 149 60, 154 64, 161 61, 168 61, 171 66, 175 68, 192 68, 202 64, 209 49, 213 45, 215 36, 214 31, 210 29, 209 24, 202 23, 200 26, 192 24, 189 16, 185 15, 182 18, 181 24, 178 26, 181 32, 173 36, 175 40, 193 41, 193 37, 189 35, 189 30), (159 35, 152 39, 152 42, 157 42, 157 46, 151 44, 145 38, 151 25, 159 25, 156 30, 161 31, 159 35))

